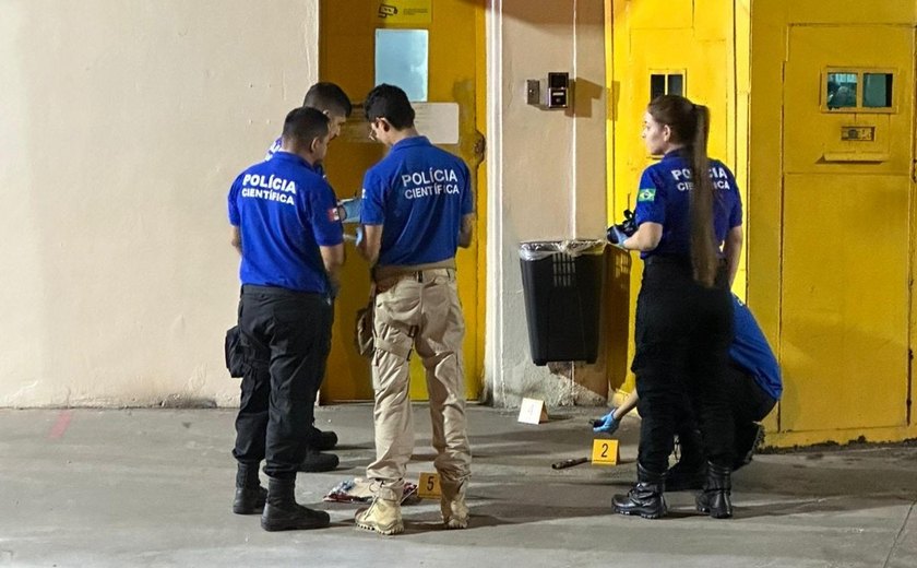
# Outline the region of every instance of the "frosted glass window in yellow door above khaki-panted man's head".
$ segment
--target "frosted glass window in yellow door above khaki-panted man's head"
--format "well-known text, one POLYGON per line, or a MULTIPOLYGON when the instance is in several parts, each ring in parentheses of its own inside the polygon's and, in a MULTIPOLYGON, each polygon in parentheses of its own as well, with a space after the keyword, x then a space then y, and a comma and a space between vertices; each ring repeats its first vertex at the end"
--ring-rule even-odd
POLYGON ((400 86, 414 102, 427 102, 429 84, 427 29, 376 31, 376 84, 400 86))

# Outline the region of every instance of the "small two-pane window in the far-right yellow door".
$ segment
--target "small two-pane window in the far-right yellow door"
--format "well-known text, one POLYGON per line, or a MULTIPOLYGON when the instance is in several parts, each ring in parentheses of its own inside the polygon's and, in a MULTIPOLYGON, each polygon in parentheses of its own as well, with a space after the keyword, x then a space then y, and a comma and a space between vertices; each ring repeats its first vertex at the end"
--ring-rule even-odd
POLYGON ((825 70, 822 111, 895 113, 894 75, 879 69, 825 70))

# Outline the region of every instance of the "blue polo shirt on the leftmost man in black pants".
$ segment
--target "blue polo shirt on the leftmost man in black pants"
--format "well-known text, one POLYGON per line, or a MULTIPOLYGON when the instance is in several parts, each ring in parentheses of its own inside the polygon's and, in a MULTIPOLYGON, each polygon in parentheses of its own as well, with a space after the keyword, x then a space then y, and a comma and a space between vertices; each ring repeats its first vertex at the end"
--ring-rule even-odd
POLYGON ((344 241, 334 190, 288 152, 255 164, 229 189, 229 223, 242 238, 242 284, 331 292, 319 247, 344 241))

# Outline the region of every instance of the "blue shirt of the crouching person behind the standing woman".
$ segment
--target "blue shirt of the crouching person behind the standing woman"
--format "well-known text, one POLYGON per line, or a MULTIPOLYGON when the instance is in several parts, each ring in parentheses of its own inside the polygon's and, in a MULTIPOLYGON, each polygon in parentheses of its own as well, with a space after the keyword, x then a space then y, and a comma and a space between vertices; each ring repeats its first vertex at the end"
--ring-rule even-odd
POLYGON ((781 366, 764 332, 754 320, 751 310, 736 295, 733 295, 733 308, 735 310, 736 336, 729 347, 729 357, 733 363, 748 371, 754 382, 761 387, 774 400, 779 400, 783 394, 783 381, 781 380, 781 366))

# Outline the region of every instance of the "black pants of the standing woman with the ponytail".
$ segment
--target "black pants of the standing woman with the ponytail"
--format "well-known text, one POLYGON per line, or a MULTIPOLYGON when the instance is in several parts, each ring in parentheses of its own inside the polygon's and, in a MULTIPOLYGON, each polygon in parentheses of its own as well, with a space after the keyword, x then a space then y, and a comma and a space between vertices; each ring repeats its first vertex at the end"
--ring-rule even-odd
POLYGON ((642 417, 638 461, 650 472, 668 466, 684 393, 699 418, 706 459, 733 466, 735 426, 726 389, 733 303, 726 281, 720 270, 716 286, 707 288, 694 282, 688 260, 647 259, 631 368, 642 417))

